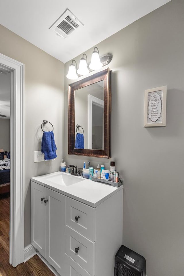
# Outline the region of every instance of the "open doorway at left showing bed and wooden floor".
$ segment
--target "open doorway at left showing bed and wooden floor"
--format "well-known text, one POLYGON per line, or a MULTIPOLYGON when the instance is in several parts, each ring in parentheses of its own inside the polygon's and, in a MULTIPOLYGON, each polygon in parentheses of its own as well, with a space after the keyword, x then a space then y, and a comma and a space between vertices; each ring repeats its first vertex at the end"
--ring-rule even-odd
POLYGON ((0 67, 0 247, 9 256, 10 72, 0 67), (8 252, 7 252, 8 251, 8 252))

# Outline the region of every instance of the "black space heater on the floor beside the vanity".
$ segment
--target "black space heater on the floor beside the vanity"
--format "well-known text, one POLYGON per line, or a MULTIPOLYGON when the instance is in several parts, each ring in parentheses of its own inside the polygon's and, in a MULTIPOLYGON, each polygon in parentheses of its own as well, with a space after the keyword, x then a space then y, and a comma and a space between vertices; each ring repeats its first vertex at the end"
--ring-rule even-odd
POLYGON ((115 256, 114 276, 146 276, 146 260, 126 246, 120 246, 115 256))

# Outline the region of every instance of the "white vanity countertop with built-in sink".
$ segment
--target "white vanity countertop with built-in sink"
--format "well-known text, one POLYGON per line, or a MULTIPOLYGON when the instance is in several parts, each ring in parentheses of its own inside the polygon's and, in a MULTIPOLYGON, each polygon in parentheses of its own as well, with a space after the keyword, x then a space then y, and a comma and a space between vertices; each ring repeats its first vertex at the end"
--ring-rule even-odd
POLYGON ((61 172, 32 177, 31 181, 83 202, 91 207, 98 206, 114 193, 117 193, 123 189, 123 185, 117 188, 108 184, 91 181, 90 179, 61 172), (72 185, 61 185, 60 179, 62 179, 62 176, 65 177, 65 179, 68 177, 68 182, 70 182, 70 180, 71 182, 72 180, 74 180, 74 182, 75 180, 78 182, 72 185))

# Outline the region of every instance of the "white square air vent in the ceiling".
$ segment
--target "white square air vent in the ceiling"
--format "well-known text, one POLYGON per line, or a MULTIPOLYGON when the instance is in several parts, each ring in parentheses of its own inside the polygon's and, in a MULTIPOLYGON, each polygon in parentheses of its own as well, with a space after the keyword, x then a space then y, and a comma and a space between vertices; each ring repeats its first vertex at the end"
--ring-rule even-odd
POLYGON ((58 18, 49 30, 53 30, 58 36, 66 38, 74 30, 83 24, 69 11, 66 9, 64 13, 58 18))

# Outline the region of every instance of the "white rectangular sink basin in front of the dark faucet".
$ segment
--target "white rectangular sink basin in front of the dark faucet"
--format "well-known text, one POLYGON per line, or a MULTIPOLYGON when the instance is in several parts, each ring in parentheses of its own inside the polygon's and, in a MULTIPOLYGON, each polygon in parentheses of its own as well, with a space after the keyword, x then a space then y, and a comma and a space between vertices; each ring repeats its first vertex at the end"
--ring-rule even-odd
POLYGON ((58 184, 62 186, 70 186, 72 184, 83 181, 81 177, 70 175, 69 173, 59 173, 57 175, 46 175, 45 180, 53 184, 58 184))

